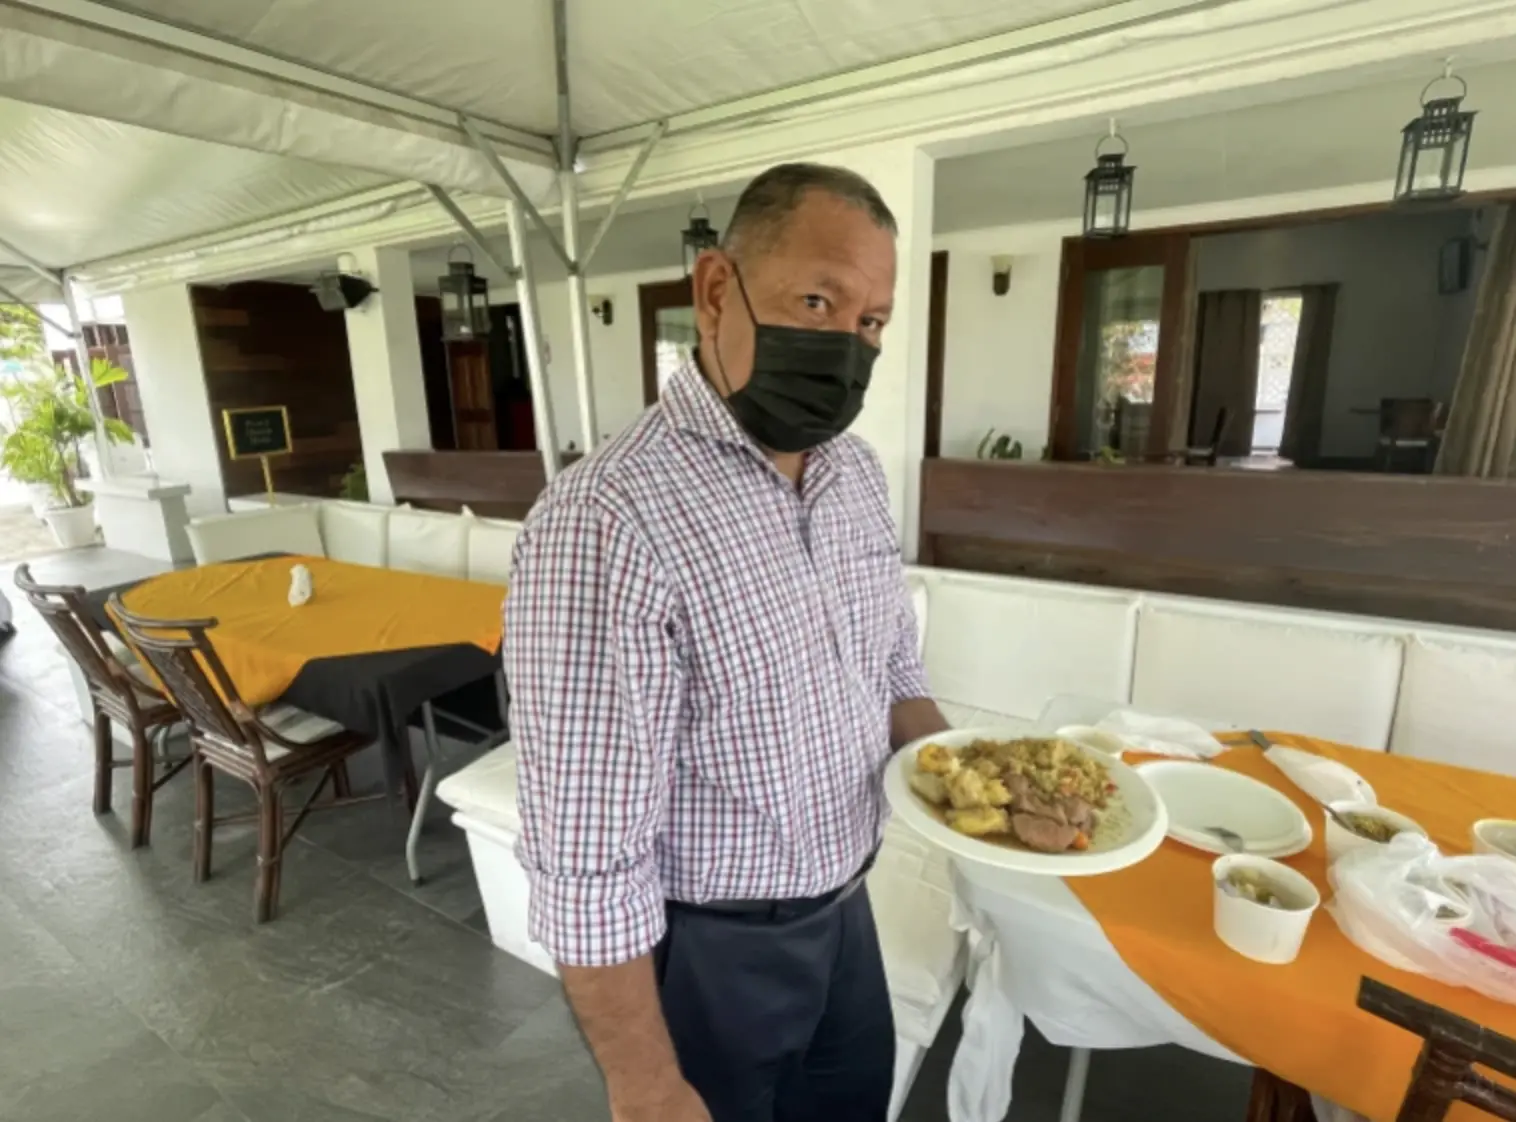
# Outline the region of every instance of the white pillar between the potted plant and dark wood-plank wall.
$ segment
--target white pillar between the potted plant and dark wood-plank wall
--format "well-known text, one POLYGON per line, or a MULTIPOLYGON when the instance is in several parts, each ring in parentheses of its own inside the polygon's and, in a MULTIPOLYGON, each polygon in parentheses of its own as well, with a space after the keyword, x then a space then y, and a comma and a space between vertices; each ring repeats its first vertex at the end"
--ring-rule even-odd
POLYGON ((190 484, 190 514, 226 511, 226 482, 188 285, 121 297, 143 417, 161 478, 190 484))

